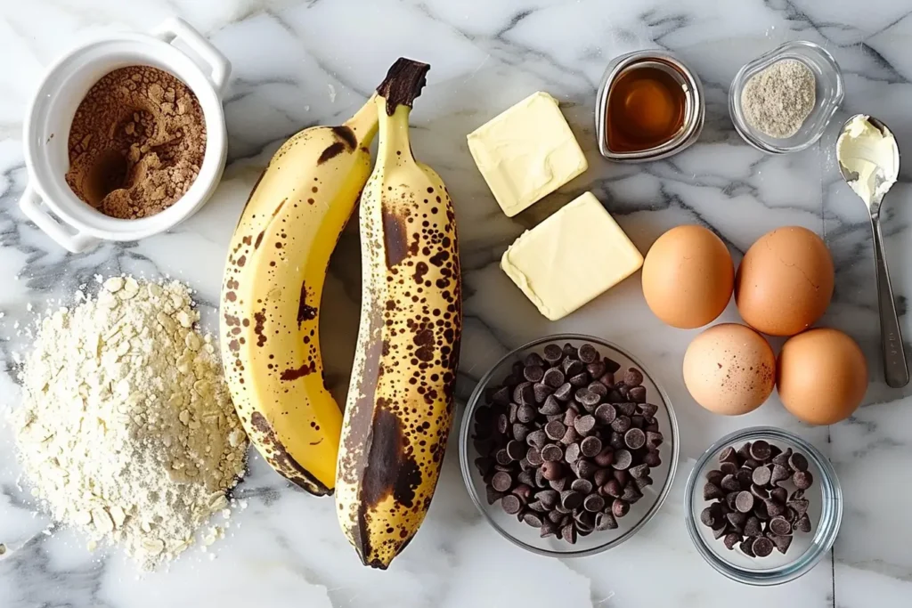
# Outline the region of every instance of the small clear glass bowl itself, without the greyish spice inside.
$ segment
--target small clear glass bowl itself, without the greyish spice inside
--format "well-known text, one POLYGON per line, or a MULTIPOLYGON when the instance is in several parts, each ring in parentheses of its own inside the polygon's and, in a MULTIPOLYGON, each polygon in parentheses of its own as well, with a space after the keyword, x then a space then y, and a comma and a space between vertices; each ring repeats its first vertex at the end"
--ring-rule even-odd
POLYGON ((729 89, 729 113, 735 129, 751 146, 769 154, 787 154, 812 146, 824 134, 843 102, 843 75, 839 65, 823 46, 803 40, 787 42, 741 67, 729 89), (797 59, 814 72, 816 103, 804 124, 792 137, 771 138, 751 127, 741 111, 741 93, 751 77, 782 59, 797 59))

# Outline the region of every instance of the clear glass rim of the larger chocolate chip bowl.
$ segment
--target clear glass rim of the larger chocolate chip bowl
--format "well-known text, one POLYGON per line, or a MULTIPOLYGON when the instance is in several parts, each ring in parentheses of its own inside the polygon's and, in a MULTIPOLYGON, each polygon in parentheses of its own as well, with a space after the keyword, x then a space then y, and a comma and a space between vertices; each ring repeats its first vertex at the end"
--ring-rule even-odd
MULTIPOLYGON (((609 549, 613 549, 623 542, 634 537, 638 531, 640 531, 649 520, 652 520, 655 517, 658 510, 661 509, 662 505, 668 499, 668 494, 671 491, 671 486, 675 478, 675 474, 678 471, 678 459, 679 459, 679 429, 678 429, 678 418, 675 416, 674 407, 671 405, 671 400, 668 398, 668 393, 665 392, 665 389, 656 382, 655 376, 649 373, 648 369, 642 365, 639 359, 636 356, 630 355, 627 349, 622 348, 612 342, 609 342, 603 338, 596 337, 594 335, 585 335, 585 334, 553 334, 545 335, 540 338, 536 338, 530 342, 527 342, 523 345, 513 348, 510 352, 506 353, 497 362, 485 372, 478 384, 475 385, 475 388, 472 390, 472 396, 469 397, 469 400, 466 402, 465 408, 462 412, 462 421, 460 425, 459 433, 459 456, 460 456, 460 469, 462 473, 462 481, 465 483, 466 489, 469 491, 469 496, 472 498, 472 502, 475 505, 475 508, 482 514, 482 518, 488 522, 488 524, 497 531, 504 539, 511 541, 514 545, 522 547, 526 551, 532 551, 538 555, 544 555, 545 557, 557 557, 557 558, 576 558, 576 557, 586 557, 588 555, 595 555, 596 553, 601 553, 609 549), (658 395, 662 399, 662 405, 665 407, 665 411, 668 415, 668 422, 670 425, 670 438, 671 438, 671 456, 668 460, 668 476, 665 479, 665 483, 662 486, 662 489, 658 492, 658 497, 655 502, 649 507, 649 510, 637 521, 636 524, 630 530, 626 531, 624 534, 614 538, 611 541, 606 541, 596 547, 591 549, 584 549, 578 551, 549 551, 547 549, 541 549, 539 547, 534 547, 526 542, 521 541, 516 538, 510 532, 504 530, 496 521, 494 521, 491 515, 488 514, 484 505, 482 504, 482 497, 479 495, 478 491, 475 489, 475 485, 472 482, 472 472, 470 467, 472 463, 469 462, 469 444, 471 442, 470 433, 472 431, 472 414, 475 409, 477 409, 481 402, 482 396, 484 394, 484 389, 491 384, 494 372, 503 366, 504 363, 513 359, 519 353, 522 353, 525 350, 534 348, 536 346, 560 342, 562 340, 578 340, 583 342, 591 342, 595 345, 605 346, 616 350, 621 355, 627 357, 630 362, 632 362, 637 368, 643 373, 643 376, 646 376, 649 381, 656 386, 658 389, 658 395)), ((571 545, 572 546, 572 545, 571 545)))

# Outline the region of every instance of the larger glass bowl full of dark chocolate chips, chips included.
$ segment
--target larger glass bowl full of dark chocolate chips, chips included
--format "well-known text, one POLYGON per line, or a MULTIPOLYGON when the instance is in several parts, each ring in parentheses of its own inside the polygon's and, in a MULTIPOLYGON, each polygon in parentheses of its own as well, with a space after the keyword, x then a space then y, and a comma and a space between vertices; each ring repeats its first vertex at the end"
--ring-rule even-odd
POLYGON ((528 551, 579 557, 627 541, 668 496, 678 423, 634 356, 552 335, 504 356, 462 418, 462 477, 485 520, 528 551))

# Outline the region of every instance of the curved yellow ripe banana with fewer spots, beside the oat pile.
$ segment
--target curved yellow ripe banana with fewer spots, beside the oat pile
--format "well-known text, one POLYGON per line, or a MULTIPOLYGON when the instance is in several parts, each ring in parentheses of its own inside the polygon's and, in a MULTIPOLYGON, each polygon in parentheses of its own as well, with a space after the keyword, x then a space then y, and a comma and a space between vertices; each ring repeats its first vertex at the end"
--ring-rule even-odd
POLYGON ((318 496, 333 491, 342 425, 323 384, 318 307, 376 132, 371 98, 340 127, 288 139, 254 186, 224 272, 222 360, 234 406, 264 459, 318 496))

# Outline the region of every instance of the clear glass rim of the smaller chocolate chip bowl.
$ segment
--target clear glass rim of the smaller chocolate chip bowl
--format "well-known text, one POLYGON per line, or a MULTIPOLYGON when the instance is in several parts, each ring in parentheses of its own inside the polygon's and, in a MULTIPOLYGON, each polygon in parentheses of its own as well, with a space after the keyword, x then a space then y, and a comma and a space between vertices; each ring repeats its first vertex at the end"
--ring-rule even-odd
MULTIPOLYGON (((793 581, 807 572, 811 572, 811 570, 814 569, 814 566, 824 558, 824 555, 833 549, 833 544, 839 533, 839 527, 843 519, 842 488, 830 459, 826 458, 810 441, 782 428, 743 428, 731 432, 714 442, 703 452, 700 459, 697 459, 693 469, 690 470, 687 485, 684 489, 684 517, 687 523, 690 540, 693 541, 697 552, 699 552, 700 556, 702 556, 702 558, 717 572, 724 574, 732 581, 745 584, 756 586, 778 585, 784 582, 793 581), (821 535, 820 544, 812 547, 808 551, 804 551, 803 554, 799 555, 792 562, 788 562, 782 567, 768 572, 749 572, 738 566, 732 565, 730 562, 722 560, 715 551, 710 549, 705 539, 703 539, 700 530, 697 527, 697 519, 694 515, 694 492, 698 489, 700 471, 722 448, 730 446, 738 441, 750 440, 751 438, 758 436, 772 436, 783 442, 793 444, 795 448, 803 449, 807 458, 814 463, 814 466, 816 466, 821 473, 823 473, 824 478, 818 480, 821 484, 821 495, 824 503, 822 505, 820 523, 826 525, 824 531, 818 532, 821 535)), ((816 538, 817 535, 815 534, 814 536, 816 538)))

